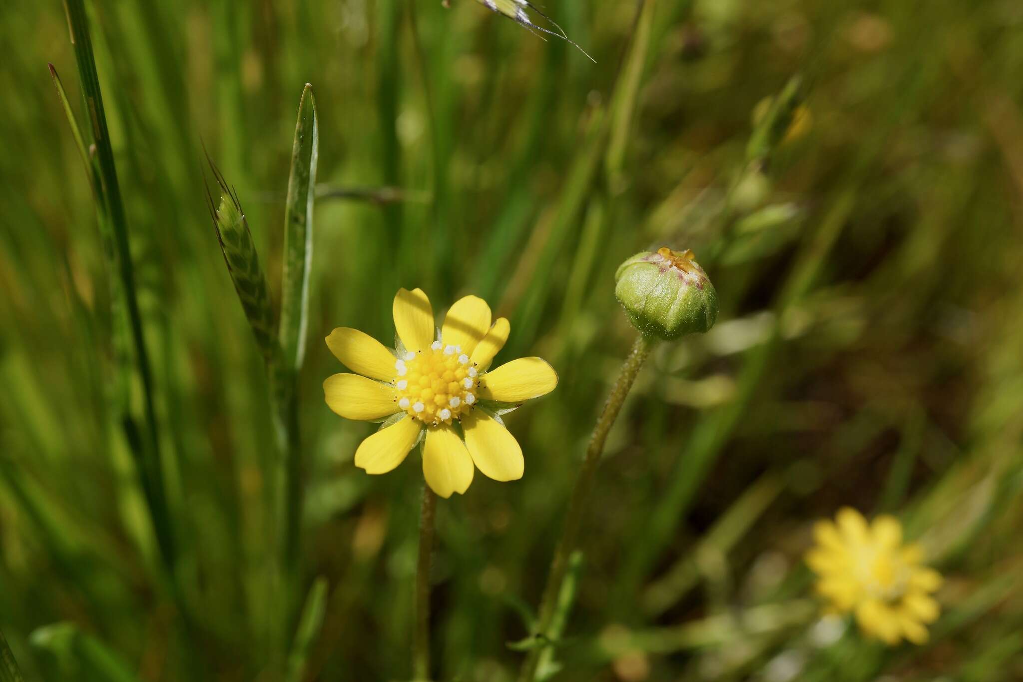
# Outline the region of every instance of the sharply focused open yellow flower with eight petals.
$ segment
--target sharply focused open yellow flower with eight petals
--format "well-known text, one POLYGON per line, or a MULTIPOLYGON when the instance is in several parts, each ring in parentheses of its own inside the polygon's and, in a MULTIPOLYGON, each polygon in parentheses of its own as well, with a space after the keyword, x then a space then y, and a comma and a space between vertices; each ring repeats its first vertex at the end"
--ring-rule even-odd
POLYGON ((358 372, 323 381, 327 406, 346 419, 384 421, 359 445, 355 465, 386 473, 421 440, 422 474, 441 497, 464 493, 475 468, 495 481, 521 479, 522 448, 499 415, 552 391, 553 368, 520 358, 490 370, 509 325, 503 317, 491 324, 490 307, 475 295, 451 306, 439 332, 421 289, 399 289, 393 312, 394 350, 348 327, 326 337, 358 372))

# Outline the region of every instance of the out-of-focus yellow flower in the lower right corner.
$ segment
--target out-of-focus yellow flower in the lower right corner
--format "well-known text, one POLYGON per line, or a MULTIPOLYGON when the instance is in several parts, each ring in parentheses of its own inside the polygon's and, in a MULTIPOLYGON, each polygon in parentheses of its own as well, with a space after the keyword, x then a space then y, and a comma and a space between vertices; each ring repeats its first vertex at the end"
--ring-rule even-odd
POLYGON ((854 612, 869 636, 891 645, 903 637, 926 642, 926 625, 938 618, 931 593, 941 575, 921 565, 921 547, 902 544, 902 527, 893 516, 878 516, 868 526, 858 511, 844 507, 835 521, 817 521, 816 545, 806 554, 819 578, 817 592, 836 610, 854 612))

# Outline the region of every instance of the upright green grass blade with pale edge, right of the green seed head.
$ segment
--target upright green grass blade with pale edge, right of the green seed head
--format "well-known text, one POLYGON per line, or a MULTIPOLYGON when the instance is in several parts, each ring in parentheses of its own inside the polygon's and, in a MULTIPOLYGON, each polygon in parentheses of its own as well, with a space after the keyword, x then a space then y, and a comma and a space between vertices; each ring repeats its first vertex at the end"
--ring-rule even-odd
POLYGON ((278 338, 284 362, 294 371, 302 367, 309 308, 309 270, 313 257, 313 201, 316 195, 316 160, 319 123, 316 98, 308 83, 299 102, 299 122, 292 147, 292 173, 287 178, 284 218, 284 265, 281 277, 278 338))

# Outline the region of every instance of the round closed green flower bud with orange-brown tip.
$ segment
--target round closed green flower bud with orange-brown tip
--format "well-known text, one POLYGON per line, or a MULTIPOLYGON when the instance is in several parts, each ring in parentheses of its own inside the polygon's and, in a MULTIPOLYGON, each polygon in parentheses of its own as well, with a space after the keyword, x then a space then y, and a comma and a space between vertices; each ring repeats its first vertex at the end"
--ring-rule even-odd
POLYGON ((648 336, 703 333, 717 319, 717 291, 692 251, 662 246, 636 254, 618 266, 615 282, 618 302, 648 336))

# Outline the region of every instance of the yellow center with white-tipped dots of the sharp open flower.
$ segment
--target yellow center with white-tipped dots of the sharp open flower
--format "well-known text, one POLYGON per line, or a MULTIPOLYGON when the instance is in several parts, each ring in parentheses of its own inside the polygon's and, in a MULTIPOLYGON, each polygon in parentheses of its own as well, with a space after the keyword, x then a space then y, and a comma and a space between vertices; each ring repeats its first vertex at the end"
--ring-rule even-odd
POLYGON ((406 353, 395 369, 398 407, 424 423, 450 424, 476 404, 479 372, 459 346, 434 342, 426 351, 406 353))

